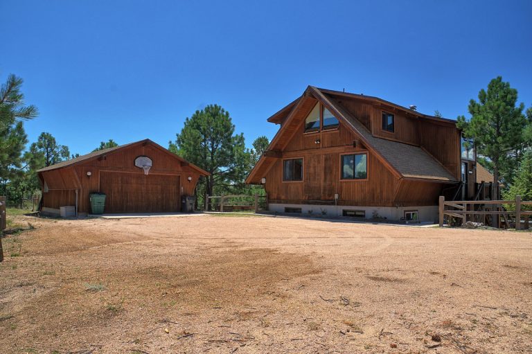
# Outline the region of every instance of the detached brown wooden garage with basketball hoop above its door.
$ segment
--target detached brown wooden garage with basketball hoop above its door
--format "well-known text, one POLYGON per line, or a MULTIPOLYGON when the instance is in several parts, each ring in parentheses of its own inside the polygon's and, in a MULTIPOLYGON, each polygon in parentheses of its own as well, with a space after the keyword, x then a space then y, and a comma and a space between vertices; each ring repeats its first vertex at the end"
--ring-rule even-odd
POLYGON ((161 145, 145 139, 91 152, 38 170, 41 211, 59 215, 75 206, 91 213, 89 195, 105 193, 105 213, 181 211, 181 196, 193 195, 200 176, 209 175, 161 145))

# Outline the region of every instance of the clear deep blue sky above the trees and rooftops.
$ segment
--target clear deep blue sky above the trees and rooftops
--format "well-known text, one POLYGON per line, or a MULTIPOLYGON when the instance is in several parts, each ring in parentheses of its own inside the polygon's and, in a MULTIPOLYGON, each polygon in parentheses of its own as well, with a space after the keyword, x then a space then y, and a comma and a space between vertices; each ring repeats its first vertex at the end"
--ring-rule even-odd
POLYGON ((71 152, 167 147, 209 103, 247 145, 307 85, 446 118, 503 76, 532 105, 532 1, 0 1, 0 80, 71 152))

